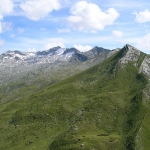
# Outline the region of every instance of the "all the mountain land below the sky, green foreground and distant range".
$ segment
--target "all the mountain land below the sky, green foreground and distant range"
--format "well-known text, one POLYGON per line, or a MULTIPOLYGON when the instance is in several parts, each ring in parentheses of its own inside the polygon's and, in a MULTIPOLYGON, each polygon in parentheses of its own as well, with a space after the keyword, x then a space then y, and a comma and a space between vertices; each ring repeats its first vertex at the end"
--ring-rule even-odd
POLYGON ((0 55, 0 149, 149 150, 150 56, 131 45, 0 55))

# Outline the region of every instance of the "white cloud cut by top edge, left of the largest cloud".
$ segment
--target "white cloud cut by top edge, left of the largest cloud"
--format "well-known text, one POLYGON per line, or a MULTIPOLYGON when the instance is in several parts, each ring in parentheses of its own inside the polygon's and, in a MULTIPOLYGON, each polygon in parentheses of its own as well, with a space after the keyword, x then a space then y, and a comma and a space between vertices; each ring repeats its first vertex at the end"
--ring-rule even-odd
POLYGON ((28 0, 20 4, 25 15, 31 20, 40 20, 51 11, 60 9, 58 0, 28 0))

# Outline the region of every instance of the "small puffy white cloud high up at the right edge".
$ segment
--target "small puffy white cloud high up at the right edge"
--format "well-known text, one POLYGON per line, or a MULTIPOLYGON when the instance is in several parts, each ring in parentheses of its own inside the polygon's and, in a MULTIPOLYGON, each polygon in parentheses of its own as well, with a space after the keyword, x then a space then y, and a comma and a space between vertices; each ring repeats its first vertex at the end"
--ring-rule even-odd
POLYGON ((145 9, 139 13, 135 11, 133 14, 136 15, 135 20, 139 23, 150 22, 150 11, 148 9, 145 9))

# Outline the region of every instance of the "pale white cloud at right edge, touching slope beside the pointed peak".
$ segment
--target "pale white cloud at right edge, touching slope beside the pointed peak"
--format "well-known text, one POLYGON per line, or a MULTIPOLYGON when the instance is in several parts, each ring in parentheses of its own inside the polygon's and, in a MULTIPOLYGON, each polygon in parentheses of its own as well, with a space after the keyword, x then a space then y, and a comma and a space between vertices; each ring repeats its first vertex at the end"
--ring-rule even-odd
POLYGON ((138 40, 136 47, 138 49, 141 49, 150 53, 150 33, 147 34, 145 37, 140 38, 138 40))

